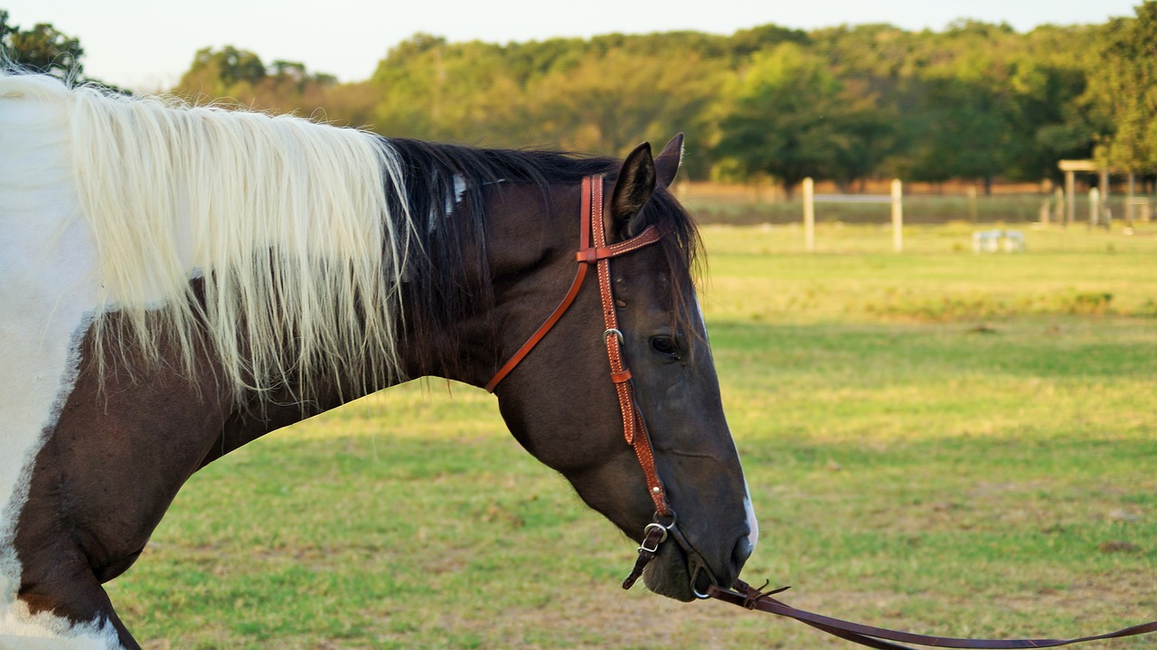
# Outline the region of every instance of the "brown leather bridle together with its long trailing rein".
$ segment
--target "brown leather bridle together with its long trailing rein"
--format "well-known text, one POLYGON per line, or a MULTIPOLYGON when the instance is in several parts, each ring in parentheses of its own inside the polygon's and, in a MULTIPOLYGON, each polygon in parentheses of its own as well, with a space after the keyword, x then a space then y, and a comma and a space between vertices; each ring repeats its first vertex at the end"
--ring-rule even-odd
MULTIPOLYGON (((1020 648, 1055 648, 1086 641, 1101 641, 1107 638, 1120 638, 1140 634, 1157 631, 1157 621, 1128 627, 1107 634, 1096 636, 1083 636, 1079 638, 952 638, 942 636, 927 636, 907 631, 892 630, 842 621, 821 614, 815 614, 804 610, 797 610, 781 603, 772 596, 786 591, 789 588, 781 588, 769 591, 754 589, 743 581, 736 581, 731 589, 717 585, 717 581, 707 568, 702 556, 690 545, 686 537, 679 530, 675 510, 671 509, 666 498, 666 490, 655 470, 655 451, 651 449, 650 436, 647 433, 647 424, 643 421, 642 412, 635 400, 634 385, 631 381, 631 369, 627 368, 622 354, 622 332, 619 330, 618 315, 614 309, 614 294, 611 289, 610 260, 644 246, 649 246, 659 241, 662 232, 655 226, 648 226, 639 235, 606 245, 606 229, 603 215, 603 176, 588 176, 582 180, 582 226, 580 230, 578 252, 575 260, 578 269, 575 279, 570 283, 562 302, 546 318, 539 328, 531 334, 525 344, 495 372, 494 377, 486 383, 486 390, 494 392, 494 389, 514 370, 523 359, 535 349, 535 346, 554 327, 562 318, 562 315, 570 308, 578 290, 587 279, 587 273, 591 266, 596 267, 598 276, 598 291, 603 304, 603 342, 606 346, 606 357, 611 368, 611 382, 619 399, 619 412, 622 414, 622 433, 639 459, 643 475, 647 479, 648 493, 655 503, 655 522, 648 524, 643 531, 643 540, 639 546, 639 559, 635 561, 631 575, 622 582, 622 589, 631 589, 639 576, 642 575, 643 567, 658 553, 659 545, 673 538, 687 554, 687 562, 692 591, 699 598, 714 598, 732 605, 738 605, 747 610, 758 610, 779 616, 795 619, 827 634, 838 636, 846 641, 852 641, 869 648, 879 650, 908 650, 900 643, 914 645, 927 645, 933 648, 961 648, 970 650, 1014 650, 1020 648), (592 242, 594 239, 594 242, 592 242), (710 578, 712 586, 706 593, 700 593, 694 586, 695 578, 700 571, 705 571, 710 578)), ((766 585, 765 585, 766 586, 766 585)))

